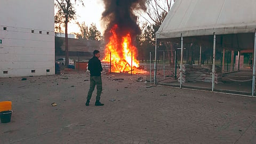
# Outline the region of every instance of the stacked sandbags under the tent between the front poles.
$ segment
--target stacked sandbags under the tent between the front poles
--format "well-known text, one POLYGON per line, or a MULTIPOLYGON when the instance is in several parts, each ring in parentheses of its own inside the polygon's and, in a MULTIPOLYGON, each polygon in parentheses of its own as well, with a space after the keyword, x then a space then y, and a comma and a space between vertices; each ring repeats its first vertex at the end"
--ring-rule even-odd
MULTIPOLYGON (((182 66, 182 82, 212 82, 212 67, 211 65, 183 65, 182 66)), ((220 83, 222 73, 220 67, 215 66, 215 83, 220 83)), ((180 82, 180 73, 178 73, 178 81, 180 82)))

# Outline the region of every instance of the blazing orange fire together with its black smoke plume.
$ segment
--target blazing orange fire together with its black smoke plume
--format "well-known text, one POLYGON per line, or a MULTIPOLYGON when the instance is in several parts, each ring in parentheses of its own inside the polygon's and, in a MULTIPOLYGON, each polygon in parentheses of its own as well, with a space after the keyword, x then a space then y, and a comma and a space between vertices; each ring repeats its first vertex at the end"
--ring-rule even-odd
POLYGON ((146 10, 146 0, 104 0, 105 11, 102 20, 107 24, 104 36, 107 42, 103 61, 111 62, 115 73, 141 73, 137 69, 138 50, 136 36, 140 34, 134 10, 146 10))

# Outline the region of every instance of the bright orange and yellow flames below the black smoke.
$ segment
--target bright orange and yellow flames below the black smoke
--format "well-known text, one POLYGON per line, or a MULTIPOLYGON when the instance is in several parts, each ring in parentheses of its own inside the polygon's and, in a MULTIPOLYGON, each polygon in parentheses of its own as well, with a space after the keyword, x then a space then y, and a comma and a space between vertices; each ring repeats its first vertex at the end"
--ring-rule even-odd
POLYGON ((103 61, 110 61, 111 55, 111 72, 114 73, 145 73, 144 70, 138 69, 139 61, 136 59, 138 51, 137 47, 132 45, 130 33, 122 37, 122 42, 118 42, 117 27, 114 25, 110 30, 111 36, 106 45, 106 56, 103 61))

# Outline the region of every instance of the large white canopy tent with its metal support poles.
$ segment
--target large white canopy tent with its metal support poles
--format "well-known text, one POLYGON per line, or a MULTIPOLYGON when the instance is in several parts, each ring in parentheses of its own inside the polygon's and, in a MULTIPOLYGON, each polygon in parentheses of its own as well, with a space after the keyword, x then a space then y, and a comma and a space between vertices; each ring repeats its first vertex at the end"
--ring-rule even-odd
MULTIPOLYGON (((213 45, 212 91, 214 89, 215 47, 218 45, 218 41, 216 41, 216 35, 222 35, 222 47, 225 47, 225 44, 230 43, 228 42, 230 41, 228 36, 233 37, 235 35, 236 37, 239 37, 240 43, 237 40, 236 46, 235 44, 232 44, 233 48, 237 47, 239 50, 252 49, 254 41, 252 83, 253 95, 255 89, 256 63, 255 7, 255 0, 177 0, 173 4, 170 12, 166 15, 166 18, 164 19, 161 27, 156 32, 156 41, 158 42, 166 39, 181 39, 181 72, 183 57, 183 37, 186 37, 190 40, 196 39, 199 36, 211 37, 213 39, 213 44, 210 41, 208 43, 213 45), (248 41, 251 44, 247 44, 248 41)), ((202 39, 198 39, 199 41, 202 41, 202 39)), ((155 50, 156 52, 157 42, 155 50)), ((180 73, 180 77, 182 77, 182 73, 180 73)), ((156 81, 156 76, 154 76, 154 80, 156 81)), ((180 81, 180 87, 181 85, 182 81, 180 81)))

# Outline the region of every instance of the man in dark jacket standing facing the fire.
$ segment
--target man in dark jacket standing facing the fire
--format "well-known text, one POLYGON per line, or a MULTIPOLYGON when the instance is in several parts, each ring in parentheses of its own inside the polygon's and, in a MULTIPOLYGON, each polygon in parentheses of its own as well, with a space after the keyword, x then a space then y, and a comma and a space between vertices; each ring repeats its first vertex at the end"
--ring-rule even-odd
POLYGON ((98 50, 93 51, 93 58, 88 62, 88 69, 90 70, 90 89, 87 94, 86 106, 89 106, 90 99, 92 97, 92 92, 94 91, 95 85, 97 85, 97 96, 95 106, 103 106, 104 104, 100 102, 100 94, 102 92, 102 80, 101 71, 102 66, 99 60, 100 52, 98 50))

